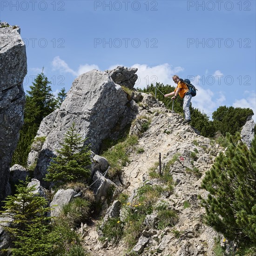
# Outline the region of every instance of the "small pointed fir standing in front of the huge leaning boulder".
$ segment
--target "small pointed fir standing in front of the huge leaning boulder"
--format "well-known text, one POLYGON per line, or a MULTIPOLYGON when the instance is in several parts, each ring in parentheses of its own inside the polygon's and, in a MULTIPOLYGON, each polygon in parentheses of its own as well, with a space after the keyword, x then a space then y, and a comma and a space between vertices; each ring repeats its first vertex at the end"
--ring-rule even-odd
POLYGON ((84 146, 81 135, 77 133, 75 124, 68 129, 64 137, 62 148, 57 150, 58 156, 52 159, 45 180, 62 184, 69 181, 88 178, 90 170, 87 168, 91 163, 90 150, 84 146))

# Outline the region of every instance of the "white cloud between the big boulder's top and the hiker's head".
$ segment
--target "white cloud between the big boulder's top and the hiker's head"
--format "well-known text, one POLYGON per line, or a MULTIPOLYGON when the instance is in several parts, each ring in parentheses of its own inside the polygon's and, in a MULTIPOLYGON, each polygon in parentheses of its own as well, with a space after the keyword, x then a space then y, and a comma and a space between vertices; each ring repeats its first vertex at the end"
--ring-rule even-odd
POLYGON ((138 68, 136 72, 138 79, 135 83, 135 88, 145 88, 147 85, 155 84, 156 82, 174 85, 172 76, 184 70, 182 67, 172 67, 168 63, 154 67, 149 67, 146 64, 134 64, 132 67, 138 68))

